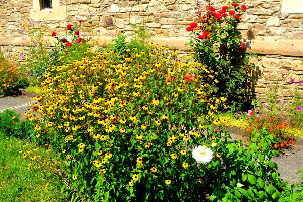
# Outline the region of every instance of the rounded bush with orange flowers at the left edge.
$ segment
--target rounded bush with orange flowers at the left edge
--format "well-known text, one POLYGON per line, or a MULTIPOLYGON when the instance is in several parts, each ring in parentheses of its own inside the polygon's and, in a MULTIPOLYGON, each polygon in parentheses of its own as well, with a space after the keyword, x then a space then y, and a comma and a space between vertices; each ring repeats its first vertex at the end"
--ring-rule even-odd
POLYGON ((0 60, 0 95, 19 93, 19 88, 28 85, 25 73, 17 65, 0 60))

